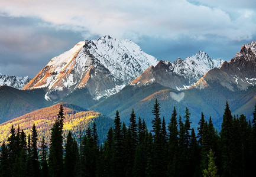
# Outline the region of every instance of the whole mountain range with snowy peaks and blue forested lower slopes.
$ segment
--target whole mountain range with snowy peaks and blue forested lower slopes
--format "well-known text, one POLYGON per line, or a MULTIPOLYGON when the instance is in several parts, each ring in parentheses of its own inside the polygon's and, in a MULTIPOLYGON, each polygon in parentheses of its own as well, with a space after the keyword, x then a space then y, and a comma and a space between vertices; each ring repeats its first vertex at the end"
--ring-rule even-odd
POLYGON ((158 61, 130 40, 107 35, 79 42, 52 58, 22 90, 0 87, 0 122, 67 103, 111 118, 118 110, 125 123, 134 109, 151 127, 151 110, 158 99, 166 123, 176 106, 182 117, 189 108, 194 127, 201 112, 221 127, 226 100, 232 113, 244 113, 251 119, 256 101, 255 67, 256 42, 243 45, 229 62, 199 51, 172 63, 158 61))

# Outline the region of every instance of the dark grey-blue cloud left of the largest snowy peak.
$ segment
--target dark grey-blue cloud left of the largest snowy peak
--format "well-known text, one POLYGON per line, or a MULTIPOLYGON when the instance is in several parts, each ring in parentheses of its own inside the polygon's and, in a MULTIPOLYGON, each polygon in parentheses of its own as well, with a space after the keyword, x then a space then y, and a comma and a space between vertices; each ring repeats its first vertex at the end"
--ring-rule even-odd
POLYGON ((34 77, 51 58, 82 40, 76 32, 42 27, 38 22, 0 17, 0 73, 34 77))

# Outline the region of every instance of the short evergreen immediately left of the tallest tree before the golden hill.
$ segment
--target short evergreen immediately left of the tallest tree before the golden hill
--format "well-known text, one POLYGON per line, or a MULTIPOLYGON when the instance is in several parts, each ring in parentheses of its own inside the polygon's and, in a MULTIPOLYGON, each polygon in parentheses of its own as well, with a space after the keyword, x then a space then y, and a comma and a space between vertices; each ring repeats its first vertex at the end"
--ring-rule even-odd
POLYGON ((47 165, 47 145, 46 145, 46 140, 42 139, 41 145, 40 145, 40 151, 41 151, 41 156, 40 156, 40 166, 41 166, 41 172, 40 176, 47 177, 48 176, 48 165, 47 165))

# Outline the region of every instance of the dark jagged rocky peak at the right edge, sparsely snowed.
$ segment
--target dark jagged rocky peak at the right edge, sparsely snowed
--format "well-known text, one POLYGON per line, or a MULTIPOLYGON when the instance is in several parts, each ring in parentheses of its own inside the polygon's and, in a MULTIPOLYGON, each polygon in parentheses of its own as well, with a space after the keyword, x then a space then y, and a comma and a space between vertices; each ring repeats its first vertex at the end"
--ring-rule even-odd
POLYGON ((219 69, 208 71, 193 87, 204 89, 219 83, 231 91, 256 85, 256 42, 243 45, 241 51, 219 69))

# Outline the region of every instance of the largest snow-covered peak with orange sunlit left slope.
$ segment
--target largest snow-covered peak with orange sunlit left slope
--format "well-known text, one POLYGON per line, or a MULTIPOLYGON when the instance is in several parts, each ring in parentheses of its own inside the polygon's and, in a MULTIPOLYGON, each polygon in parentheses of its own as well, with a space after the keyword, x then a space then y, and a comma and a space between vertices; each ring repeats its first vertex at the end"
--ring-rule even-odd
POLYGON ((86 88, 93 99, 117 93, 157 59, 129 40, 109 36, 82 41, 54 57, 23 89, 47 90, 47 100, 58 100, 86 88), (58 92, 58 97, 54 96, 58 92))

